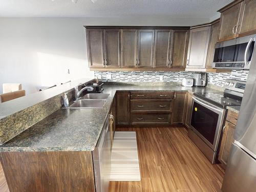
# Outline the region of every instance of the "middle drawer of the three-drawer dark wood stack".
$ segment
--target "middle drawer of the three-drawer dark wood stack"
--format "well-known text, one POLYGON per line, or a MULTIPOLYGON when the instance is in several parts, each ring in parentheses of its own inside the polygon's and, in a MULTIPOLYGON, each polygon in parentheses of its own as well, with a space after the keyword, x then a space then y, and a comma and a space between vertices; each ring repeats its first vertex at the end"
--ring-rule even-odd
POLYGON ((133 99, 131 112, 171 112, 171 101, 170 99, 133 99))

